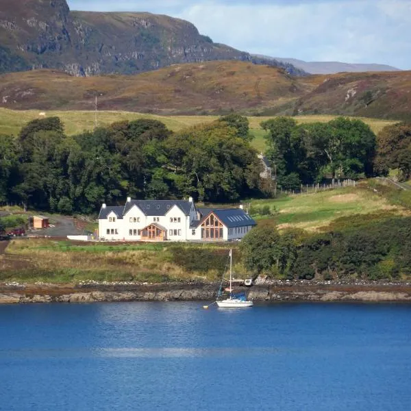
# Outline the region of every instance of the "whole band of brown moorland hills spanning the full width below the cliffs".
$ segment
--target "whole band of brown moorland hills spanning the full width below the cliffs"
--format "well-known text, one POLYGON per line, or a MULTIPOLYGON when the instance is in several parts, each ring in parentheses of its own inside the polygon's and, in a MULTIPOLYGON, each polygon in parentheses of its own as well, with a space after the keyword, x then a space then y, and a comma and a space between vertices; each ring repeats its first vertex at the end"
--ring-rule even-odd
POLYGON ((411 71, 292 77, 251 62, 176 64, 140 75, 73 77, 53 70, 0 75, 0 107, 153 114, 330 114, 411 119, 411 71))

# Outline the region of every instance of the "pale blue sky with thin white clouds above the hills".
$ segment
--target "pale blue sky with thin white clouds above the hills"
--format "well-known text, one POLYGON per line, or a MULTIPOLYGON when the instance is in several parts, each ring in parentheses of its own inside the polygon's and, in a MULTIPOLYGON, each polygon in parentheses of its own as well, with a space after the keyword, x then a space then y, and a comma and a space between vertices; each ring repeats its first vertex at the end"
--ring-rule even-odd
POLYGON ((167 14, 249 53, 411 69, 411 0, 68 0, 71 10, 167 14))

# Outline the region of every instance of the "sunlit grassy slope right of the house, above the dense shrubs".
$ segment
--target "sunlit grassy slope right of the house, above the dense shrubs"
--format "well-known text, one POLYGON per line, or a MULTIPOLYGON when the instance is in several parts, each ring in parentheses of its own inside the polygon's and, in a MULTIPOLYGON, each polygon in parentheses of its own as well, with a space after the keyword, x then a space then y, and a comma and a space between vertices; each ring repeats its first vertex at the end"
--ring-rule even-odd
MULTIPOLYGON (((271 208, 273 219, 279 228, 296 227, 308 231, 324 229, 336 219, 354 214, 365 215, 382 211, 409 214, 405 208, 390 204, 387 199, 379 197, 364 186, 251 201, 253 208, 264 205, 271 208)), ((256 219, 261 221, 266 217, 257 215, 256 219)))

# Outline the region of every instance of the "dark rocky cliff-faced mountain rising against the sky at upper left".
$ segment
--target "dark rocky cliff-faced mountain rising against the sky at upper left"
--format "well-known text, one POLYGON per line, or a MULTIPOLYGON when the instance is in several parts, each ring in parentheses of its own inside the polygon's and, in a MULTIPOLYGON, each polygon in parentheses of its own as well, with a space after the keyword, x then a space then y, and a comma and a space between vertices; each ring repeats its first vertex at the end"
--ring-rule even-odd
POLYGON ((132 74, 182 62, 253 58, 199 34, 188 21, 136 13, 71 12, 65 0, 1 0, 0 73, 59 69, 77 76, 132 74))

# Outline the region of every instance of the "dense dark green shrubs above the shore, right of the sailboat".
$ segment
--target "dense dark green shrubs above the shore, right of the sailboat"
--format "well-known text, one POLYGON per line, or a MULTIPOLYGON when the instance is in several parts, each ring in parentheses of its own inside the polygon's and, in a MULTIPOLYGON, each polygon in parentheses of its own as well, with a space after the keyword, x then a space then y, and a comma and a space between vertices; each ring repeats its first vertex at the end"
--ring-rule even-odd
POLYGON ((258 226, 240 254, 254 275, 279 279, 404 279, 411 275, 411 218, 350 217, 321 234, 258 226))

